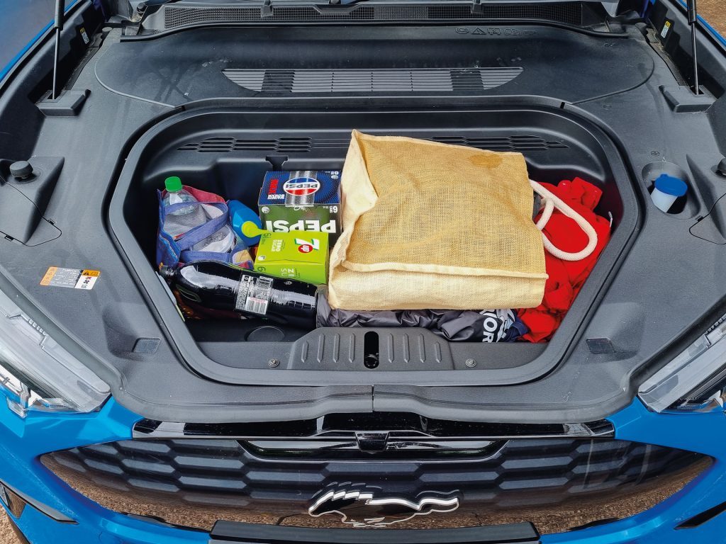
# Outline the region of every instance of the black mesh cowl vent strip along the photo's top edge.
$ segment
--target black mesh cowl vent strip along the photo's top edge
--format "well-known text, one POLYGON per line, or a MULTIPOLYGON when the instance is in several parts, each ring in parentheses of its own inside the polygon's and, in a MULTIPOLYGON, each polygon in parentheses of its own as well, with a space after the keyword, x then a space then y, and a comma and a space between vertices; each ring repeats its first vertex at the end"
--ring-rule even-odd
POLYGON ((560 2, 556 4, 481 4, 481 10, 472 13, 471 4, 455 5, 392 5, 357 6, 354 9, 319 10, 312 6, 272 7, 272 15, 261 16, 260 7, 163 7, 165 28, 197 25, 205 22, 266 22, 266 21, 420 21, 420 20, 547 20, 567 25, 582 24, 582 4, 560 2))

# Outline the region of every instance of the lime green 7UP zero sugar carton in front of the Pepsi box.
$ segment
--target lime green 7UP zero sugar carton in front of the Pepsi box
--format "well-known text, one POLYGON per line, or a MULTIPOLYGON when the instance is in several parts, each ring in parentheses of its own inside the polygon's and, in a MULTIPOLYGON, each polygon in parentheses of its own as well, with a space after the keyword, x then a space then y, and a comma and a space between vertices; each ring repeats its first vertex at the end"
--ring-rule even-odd
POLYGON ((260 231, 253 223, 245 223, 242 229, 245 236, 260 234, 256 272, 309 284, 327 284, 330 254, 327 232, 268 232, 260 231))

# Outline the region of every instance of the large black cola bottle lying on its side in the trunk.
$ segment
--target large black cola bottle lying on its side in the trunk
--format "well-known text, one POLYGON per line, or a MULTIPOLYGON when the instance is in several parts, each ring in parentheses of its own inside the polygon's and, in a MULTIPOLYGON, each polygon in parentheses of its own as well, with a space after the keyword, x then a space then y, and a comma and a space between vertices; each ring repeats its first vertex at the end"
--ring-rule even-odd
POLYGON ((160 275, 184 299, 213 310, 232 310, 301 329, 315 328, 317 286, 214 261, 169 268, 160 275))

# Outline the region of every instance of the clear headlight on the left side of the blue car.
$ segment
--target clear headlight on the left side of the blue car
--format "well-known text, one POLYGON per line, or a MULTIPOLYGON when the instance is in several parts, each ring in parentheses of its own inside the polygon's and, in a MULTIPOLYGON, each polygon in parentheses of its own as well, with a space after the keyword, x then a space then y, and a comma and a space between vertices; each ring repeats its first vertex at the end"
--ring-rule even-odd
POLYGON ((109 387, 0 292, 0 392, 25 417, 29 410, 95 411, 109 387))

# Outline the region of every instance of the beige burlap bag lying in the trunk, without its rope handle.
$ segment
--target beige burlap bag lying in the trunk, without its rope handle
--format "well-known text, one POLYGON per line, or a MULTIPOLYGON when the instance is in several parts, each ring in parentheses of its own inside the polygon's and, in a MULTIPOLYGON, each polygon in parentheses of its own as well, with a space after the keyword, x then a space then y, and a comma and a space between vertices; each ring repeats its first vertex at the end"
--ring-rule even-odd
POLYGON ((329 300, 346 310, 533 308, 544 247, 519 153, 354 131, 329 300))

